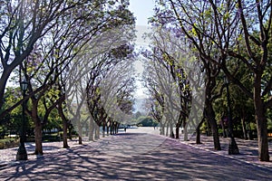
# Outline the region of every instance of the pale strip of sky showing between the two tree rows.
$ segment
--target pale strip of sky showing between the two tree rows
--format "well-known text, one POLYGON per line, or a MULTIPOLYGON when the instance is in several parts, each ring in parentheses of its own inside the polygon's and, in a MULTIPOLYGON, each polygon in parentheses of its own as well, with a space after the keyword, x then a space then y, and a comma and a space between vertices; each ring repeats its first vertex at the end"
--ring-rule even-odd
MULTIPOLYGON (((146 44, 141 39, 142 33, 148 32, 148 18, 152 16, 153 14, 153 8, 154 8, 154 0, 131 0, 130 4, 130 10, 136 16, 136 30, 137 30, 137 40, 136 45, 142 46, 146 44)), ((143 71, 142 63, 141 61, 135 62, 135 70, 138 74, 141 74, 143 71)), ((141 79, 139 77, 138 79, 141 79)), ((144 99, 147 98, 147 95, 143 86, 141 85, 141 81, 136 81, 137 90, 135 92, 135 98, 136 99, 144 99)))

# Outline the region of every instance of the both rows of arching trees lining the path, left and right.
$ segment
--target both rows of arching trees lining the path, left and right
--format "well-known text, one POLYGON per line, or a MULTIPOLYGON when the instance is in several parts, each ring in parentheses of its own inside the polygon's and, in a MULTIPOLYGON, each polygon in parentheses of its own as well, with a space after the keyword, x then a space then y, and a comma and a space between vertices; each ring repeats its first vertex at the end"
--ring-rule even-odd
MULTIPOLYGON (((53 119, 63 124, 64 148, 71 123, 81 143, 83 136, 97 138, 100 127, 117 132, 121 121, 131 119, 137 54, 128 0, 0 4, 0 116, 6 118, 1 125, 10 124, 27 101, 35 154, 43 154, 43 129, 53 119), (22 99, 15 87, 24 79, 28 89, 22 99)), ((151 46, 141 55, 148 106, 161 131, 179 138, 182 128, 187 140, 207 120, 214 148, 221 149, 226 77, 236 118, 246 130, 254 116, 259 159, 269 160, 271 8, 270 0, 156 1, 153 31, 147 34, 151 46)))

